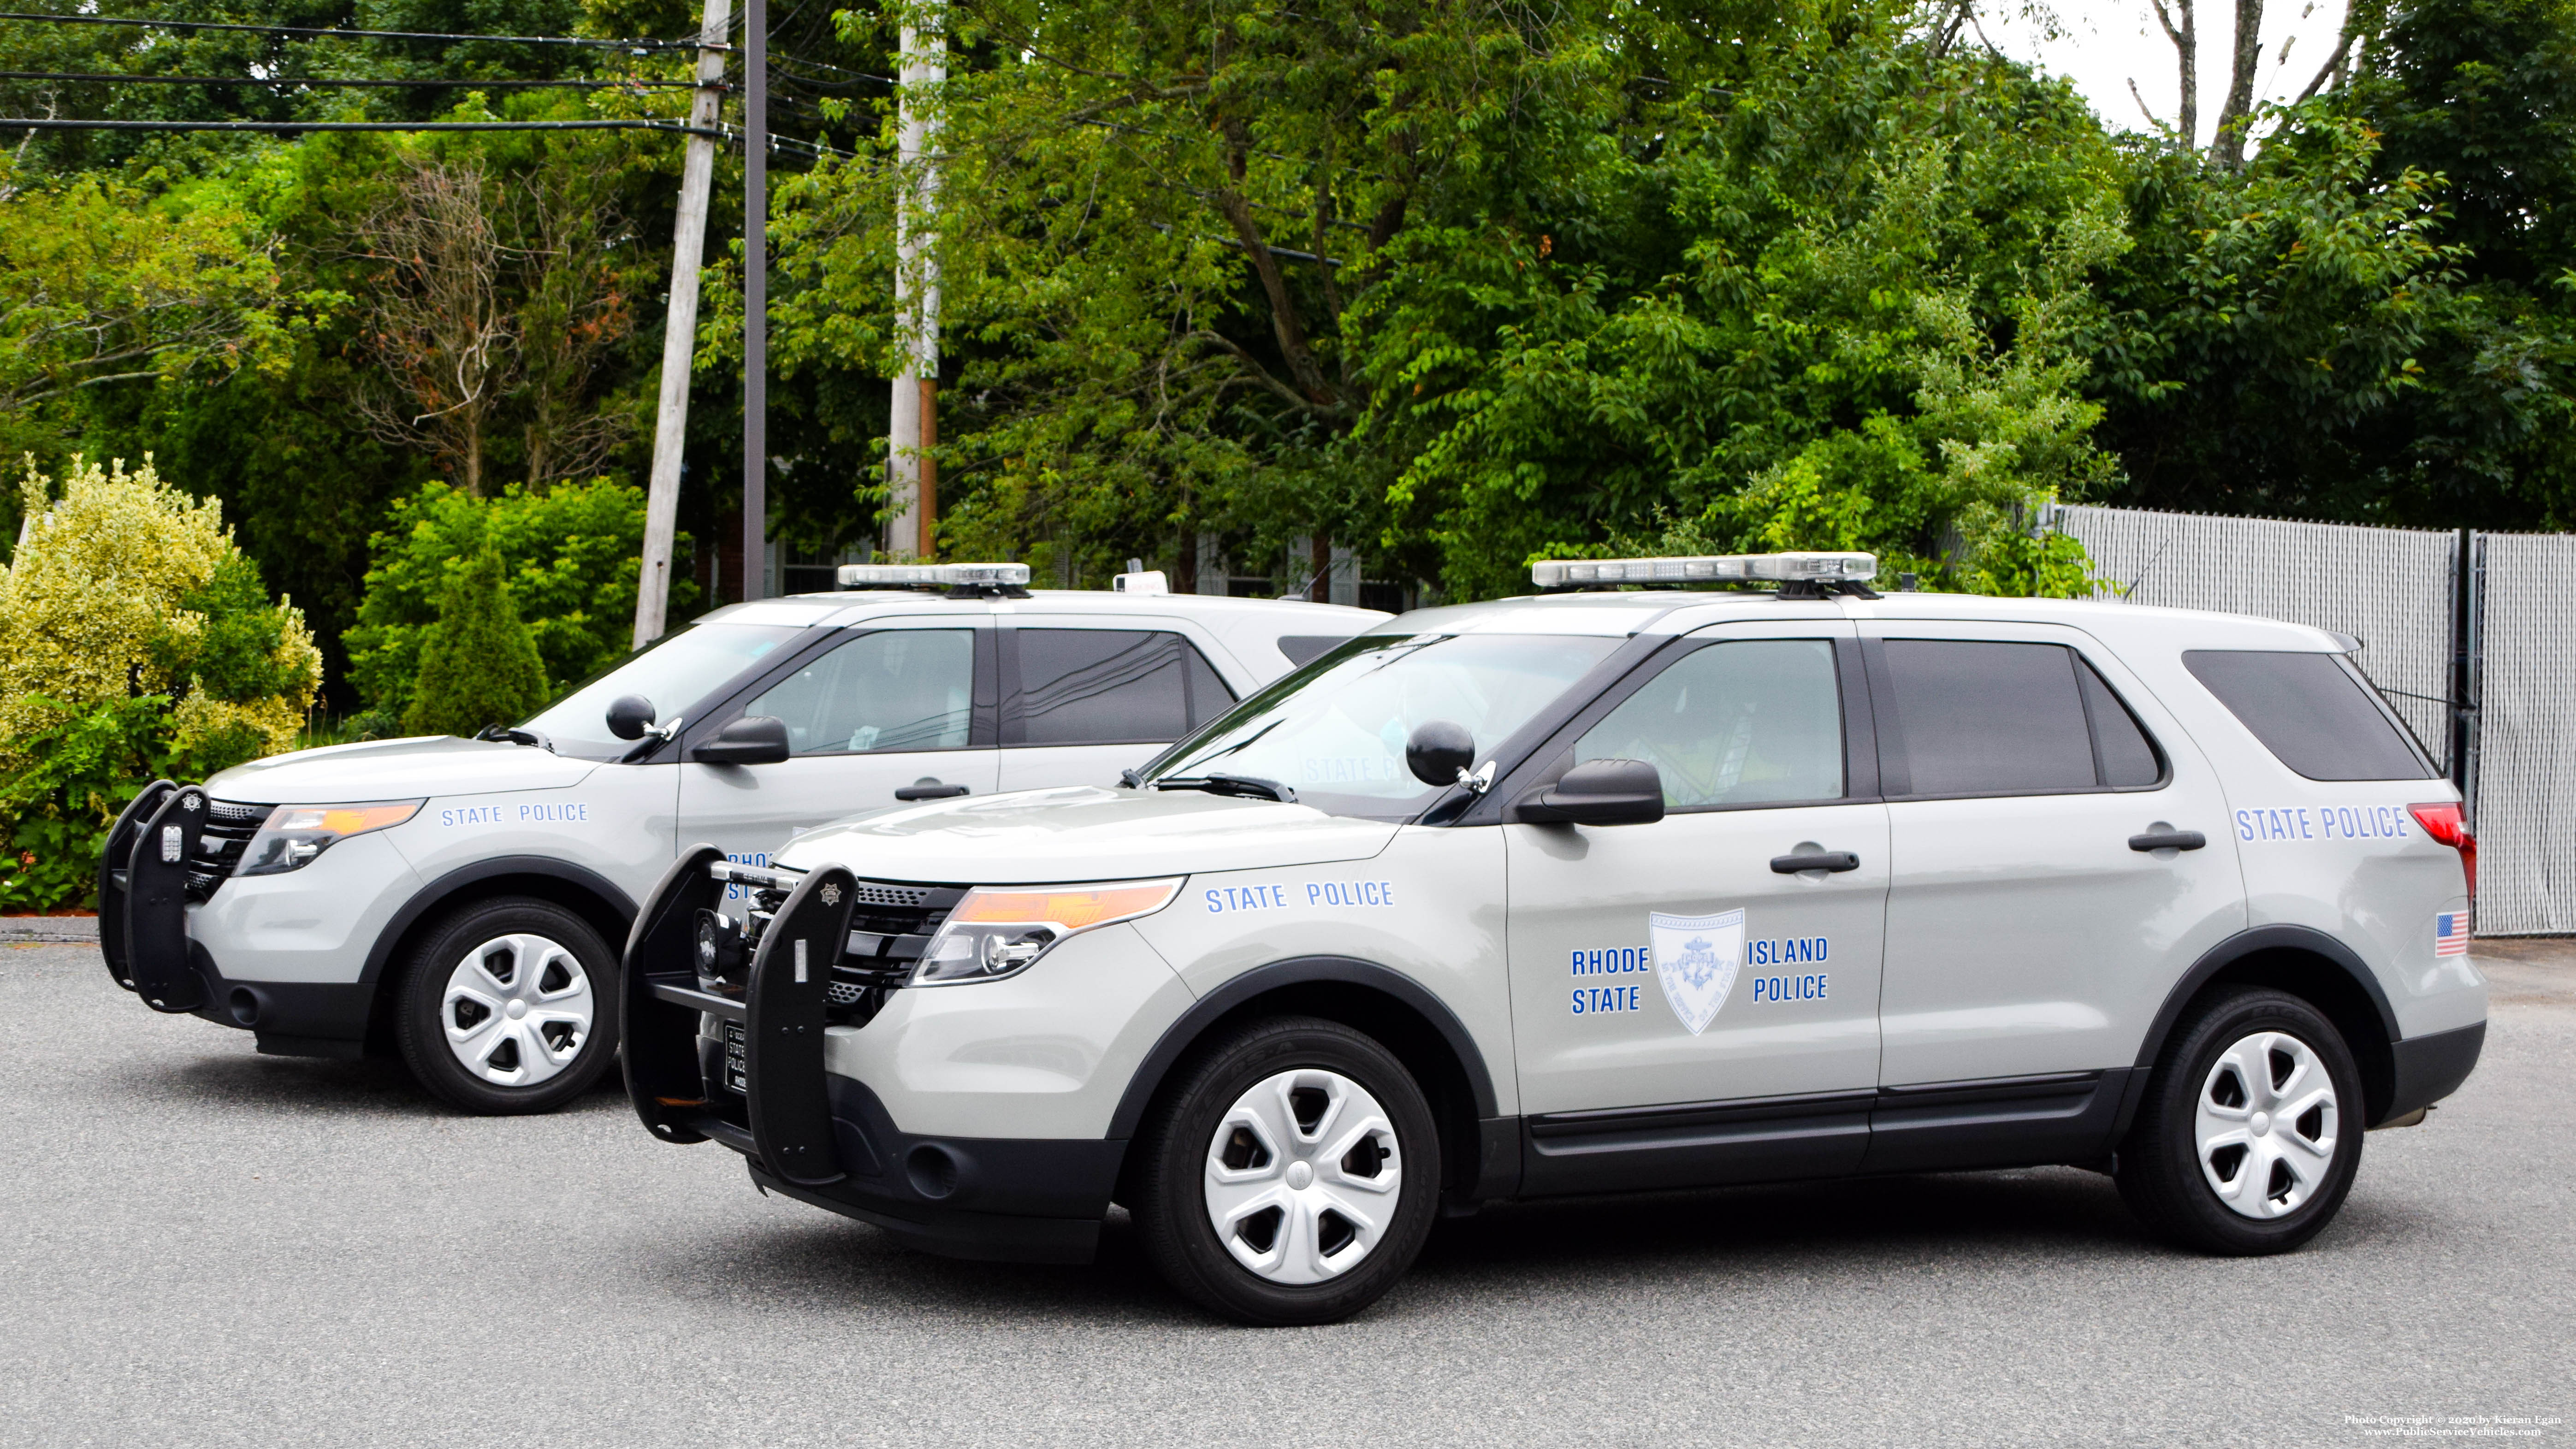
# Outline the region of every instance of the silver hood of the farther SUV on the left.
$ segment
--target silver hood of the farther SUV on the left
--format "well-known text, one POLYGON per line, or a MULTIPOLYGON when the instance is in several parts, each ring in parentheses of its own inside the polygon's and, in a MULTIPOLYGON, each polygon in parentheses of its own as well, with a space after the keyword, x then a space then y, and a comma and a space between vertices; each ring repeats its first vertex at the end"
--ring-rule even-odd
POLYGON ((495 744, 430 734, 270 754, 206 780, 219 800, 263 806, 330 806, 343 800, 412 800, 484 795, 492 790, 559 790, 598 770, 528 744, 495 744))

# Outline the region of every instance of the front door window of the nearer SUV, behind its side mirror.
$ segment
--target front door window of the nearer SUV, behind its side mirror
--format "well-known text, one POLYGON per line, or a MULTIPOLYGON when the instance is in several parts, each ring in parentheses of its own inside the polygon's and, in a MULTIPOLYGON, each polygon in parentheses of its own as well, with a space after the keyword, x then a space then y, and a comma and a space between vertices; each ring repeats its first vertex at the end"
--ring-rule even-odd
POLYGON ((1739 638, 1685 654, 1574 744, 1574 759, 1643 759, 1664 806, 1842 795, 1842 690, 1824 638, 1739 638))

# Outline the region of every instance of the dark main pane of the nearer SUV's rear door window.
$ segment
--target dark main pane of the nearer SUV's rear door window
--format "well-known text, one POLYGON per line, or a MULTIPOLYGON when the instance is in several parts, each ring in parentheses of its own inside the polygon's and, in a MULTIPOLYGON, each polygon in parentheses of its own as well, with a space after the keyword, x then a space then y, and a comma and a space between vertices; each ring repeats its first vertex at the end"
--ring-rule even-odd
POLYGON ((1886 661, 1914 795, 2094 788, 2069 649, 1891 638, 1886 661))

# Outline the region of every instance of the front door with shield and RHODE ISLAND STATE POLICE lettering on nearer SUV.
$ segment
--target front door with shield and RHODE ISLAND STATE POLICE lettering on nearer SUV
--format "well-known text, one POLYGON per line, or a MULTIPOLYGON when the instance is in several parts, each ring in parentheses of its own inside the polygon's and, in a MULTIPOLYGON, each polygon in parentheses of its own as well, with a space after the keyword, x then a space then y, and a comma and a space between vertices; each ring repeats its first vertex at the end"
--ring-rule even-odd
POLYGON ((1852 638, 1692 636, 1564 754, 1651 762, 1667 816, 1502 826, 1525 1192, 1857 1166, 1888 826, 1852 638))

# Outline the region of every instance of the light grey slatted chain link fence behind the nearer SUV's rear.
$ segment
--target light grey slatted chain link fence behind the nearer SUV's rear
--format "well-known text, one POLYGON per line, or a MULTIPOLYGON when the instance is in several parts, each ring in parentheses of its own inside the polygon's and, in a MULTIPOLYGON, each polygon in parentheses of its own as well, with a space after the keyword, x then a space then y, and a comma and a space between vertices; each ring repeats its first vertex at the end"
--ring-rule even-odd
POLYGON ((2478 934, 2576 932, 2576 538, 2092 504, 2043 525, 2123 600, 2360 638, 2354 661, 2470 803, 2478 934))

